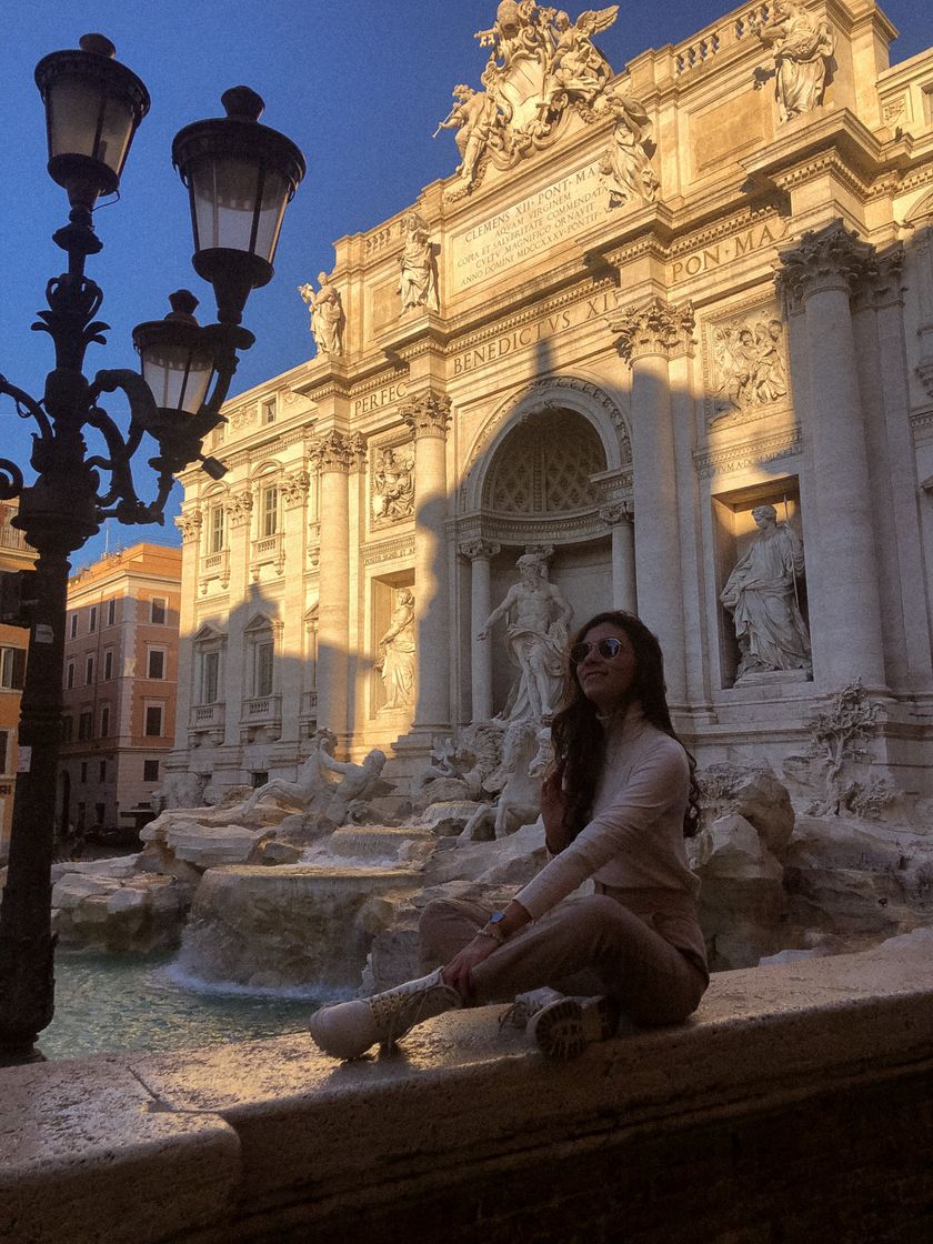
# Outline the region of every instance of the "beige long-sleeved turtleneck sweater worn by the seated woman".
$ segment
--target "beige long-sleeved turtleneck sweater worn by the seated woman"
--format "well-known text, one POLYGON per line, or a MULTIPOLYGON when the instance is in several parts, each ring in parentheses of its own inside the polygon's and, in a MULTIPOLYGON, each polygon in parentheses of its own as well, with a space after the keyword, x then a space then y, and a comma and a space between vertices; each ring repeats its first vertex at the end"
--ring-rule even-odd
POLYGON ((638 704, 605 728, 606 765, 592 820, 515 898, 537 919, 592 877, 638 914, 646 902, 638 894, 627 902, 620 889, 669 891, 672 902, 661 906, 695 918, 699 878, 687 865, 683 837, 689 790, 684 749, 647 722, 638 704))

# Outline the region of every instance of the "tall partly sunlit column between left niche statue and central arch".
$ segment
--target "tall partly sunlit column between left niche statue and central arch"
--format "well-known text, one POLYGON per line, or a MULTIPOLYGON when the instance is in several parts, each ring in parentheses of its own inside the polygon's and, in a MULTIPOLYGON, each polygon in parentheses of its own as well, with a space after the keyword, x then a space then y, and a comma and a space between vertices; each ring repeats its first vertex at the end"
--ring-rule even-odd
POLYGON ((450 591, 447 570, 447 428, 450 398, 427 389, 399 407, 414 437, 415 731, 450 724, 450 591))

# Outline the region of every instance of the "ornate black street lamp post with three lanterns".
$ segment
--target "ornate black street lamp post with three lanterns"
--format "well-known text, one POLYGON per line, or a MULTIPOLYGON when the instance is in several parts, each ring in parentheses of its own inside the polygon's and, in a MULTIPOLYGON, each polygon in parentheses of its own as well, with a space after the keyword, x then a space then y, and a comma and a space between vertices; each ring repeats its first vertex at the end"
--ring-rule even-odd
POLYGON ((258 123, 262 101, 248 87, 225 92, 228 117, 187 126, 173 144, 173 162, 188 185, 194 221, 195 271, 214 286, 218 322, 200 327, 198 300, 172 295, 164 320, 141 323, 133 342, 142 374, 128 369, 83 376, 85 352, 103 343, 107 325, 95 320, 103 295, 85 276, 85 260, 101 249, 92 211, 101 194, 119 185, 133 134, 149 95, 102 35, 85 35, 80 49, 52 52, 36 66, 46 108, 49 173, 68 194, 68 224, 53 240, 68 270, 46 286, 49 310, 40 323, 55 345, 55 368, 35 401, 0 376, 0 394, 37 425, 24 484, 19 466, 0 458, 0 499, 20 498, 14 524, 39 552, 26 679, 20 720, 20 774, 10 857, 0 909, 0 1065, 41 1057, 39 1033, 52 1019, 53 950, 51 865, 56 769, 62 714, 62 662, 68 556, 107 518, 124 524, 163 522, 174 474, 200 462, 214 479, 225 468, 202 454, 203 439, 223 420, 220 406, 236 369, 238 352, 254 336, 240 326, 251 290, 272 276, 282 216, 305 174, 297 147, 258 123), (121 391, 129 403, 123 433, 100 404, 121 391), (98 434, 102 453, 87 457, 85 433, 98 434), (158 476, 154 500, 143 503, 132 459, 143 437, 158 448, 149 465, 158 476), (102 476, 107 478, 106 485, 102 476))

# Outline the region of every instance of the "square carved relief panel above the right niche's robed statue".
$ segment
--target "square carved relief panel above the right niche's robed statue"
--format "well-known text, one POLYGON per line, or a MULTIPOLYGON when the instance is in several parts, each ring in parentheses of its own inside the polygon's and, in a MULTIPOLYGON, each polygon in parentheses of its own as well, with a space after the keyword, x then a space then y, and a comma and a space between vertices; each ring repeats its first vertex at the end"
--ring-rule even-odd
MULTIPOLYGON (((724 325, 713 340, 715 393, 738 411, 787 396, 784 325, 778 318, 724 325)), ((722 415, 719 417, 723 418, 722 415)))

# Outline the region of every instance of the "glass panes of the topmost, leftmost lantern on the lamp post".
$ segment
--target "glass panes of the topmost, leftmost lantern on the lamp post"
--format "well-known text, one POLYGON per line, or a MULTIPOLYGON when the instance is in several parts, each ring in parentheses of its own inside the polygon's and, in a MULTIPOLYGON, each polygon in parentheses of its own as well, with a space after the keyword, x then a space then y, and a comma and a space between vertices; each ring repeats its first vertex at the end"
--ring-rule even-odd
POLYGON ((49 90, 49 154, 87 156, 119 174, 133 137, 133 109, 101 82, 63 75, 49 90))

